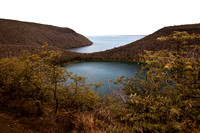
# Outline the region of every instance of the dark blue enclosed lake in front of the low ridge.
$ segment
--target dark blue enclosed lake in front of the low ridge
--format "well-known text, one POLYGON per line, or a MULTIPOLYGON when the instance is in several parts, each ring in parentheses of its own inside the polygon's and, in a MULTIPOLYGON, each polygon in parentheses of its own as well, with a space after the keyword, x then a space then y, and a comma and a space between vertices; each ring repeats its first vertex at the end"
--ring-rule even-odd
POLYGON ((84 76, 87 83, 104 83, 97 90, 100 94, 109 94, 110 90, 115 86, 109 86, 108 80, 115 81, 123 74, 131 77, 141 66, 132 62, 79 62, 64 65, 64 68, 73 74, 84 76))

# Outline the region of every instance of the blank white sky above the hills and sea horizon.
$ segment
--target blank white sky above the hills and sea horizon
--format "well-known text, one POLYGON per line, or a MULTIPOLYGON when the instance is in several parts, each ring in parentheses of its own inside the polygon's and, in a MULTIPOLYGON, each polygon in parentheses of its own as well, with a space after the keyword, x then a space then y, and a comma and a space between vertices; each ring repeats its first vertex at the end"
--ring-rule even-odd
POLYGON ((83 35, 144 35, 200 23, 200 0, 0 0, 0 18, 69 27, 83 35))

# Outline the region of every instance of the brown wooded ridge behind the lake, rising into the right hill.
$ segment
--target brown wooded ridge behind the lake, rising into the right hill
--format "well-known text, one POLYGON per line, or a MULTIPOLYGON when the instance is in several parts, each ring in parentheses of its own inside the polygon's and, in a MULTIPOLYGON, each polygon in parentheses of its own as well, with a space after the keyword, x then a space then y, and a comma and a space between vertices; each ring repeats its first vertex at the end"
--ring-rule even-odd
MULTIPOLYGON (((139 55, 144 54, 147 51, 160 51, 160 50, 170 50, 176 51, 176 42, 173 40, 158 41, 157 38, 161 36, 168 36, 174 33, 174 31, 186 31, 189 34, 199 34, 200 24, 190 24, 190 25, 179 25, 164 27, 153 34, 145 36, 144 38, 121 46, 118 48, 113 48, 110 50, 95 52, 95 53, 76 53, 71 51, 63 51, 60 62, 70 62, 70 61, 139 61, 139 55)), ((183 45, 200 45, 199 39, 188 40, 187 44, 183 45)), ((200 51, 188 51, 187 53, 194 54, 194 57, 200 57, 200 51), (193 52, 193 53, 191 53, 193 52)))

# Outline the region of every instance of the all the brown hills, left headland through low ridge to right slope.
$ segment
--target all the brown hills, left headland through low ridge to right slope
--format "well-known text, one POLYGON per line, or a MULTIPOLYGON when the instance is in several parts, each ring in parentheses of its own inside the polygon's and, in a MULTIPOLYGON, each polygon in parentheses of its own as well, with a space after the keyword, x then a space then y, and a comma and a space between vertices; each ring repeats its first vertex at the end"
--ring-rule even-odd
MULTIPOLYGON (((49 44, 51 50, 62 51, 60 63, 70 61, 138 61, 139 54, 144 50, 175 50, 173 41, 157 41, 160 36, 168 36, 174 31, 186 31, 189 34, 200 33, 200 24, 179 25, 164 27, 138 41, 118 48, 96 52, 91 54, 76 53, 66 50, 67 48, 88 46, 92 42, 84 36, 69 28, 59 28, 50 25, 27 23, 13 20, 0 19, 0 58, 19 56, 22 50, 30 52, 43 45, 49 44)), ((200 45, 200 40, 193 39, 187 45, 200 45)), ((188 53, 190 54, 190 53, 188 53)), ((199 56, 199 51, 195 51, 199 56)))

